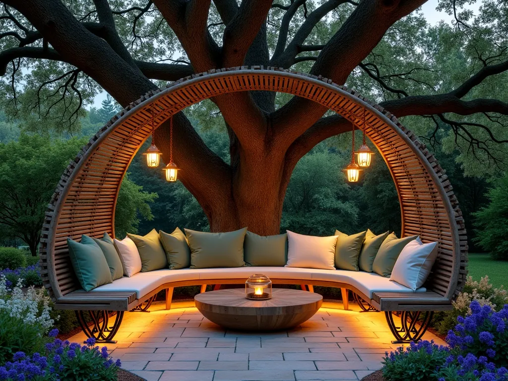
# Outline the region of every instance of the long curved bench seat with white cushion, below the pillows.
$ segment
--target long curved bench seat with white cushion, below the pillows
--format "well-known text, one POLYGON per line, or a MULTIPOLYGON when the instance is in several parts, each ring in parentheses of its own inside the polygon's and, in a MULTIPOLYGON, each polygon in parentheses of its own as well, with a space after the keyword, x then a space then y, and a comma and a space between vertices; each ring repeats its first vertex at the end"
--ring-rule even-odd
MULTIPOLYGON (((414 294, 415 291, 404 287, 403 285, 389 280, 375 273, 365 271, 347 271, 347 270, 318 270, 296 267, 230 267, 213 269, 180 269, 180 270, 155 270, 150 272, 140 272, 132 277, 122 277, 112 283, 104 284, 91 292, 135 292, 137 298, 142 300, 144 296, 156 290, 166 283, 198 281, 203 283, 213 283, 210 280, 221 279, 247 279, 252 274, 265 274, 271 279, 301 280, 301 283, 333 282, 343 283, 352 286, 352 289, 360 291, 363 296, 369 300, 373 298, 374 293, 408 293, 414 294)), ((279 281, 280 283, 280 281, 279 281)), ((199 282, 197 282, 199 284, 199 282)), ((426 292, 425 288, 420 288, 416 293, 426 292)))

